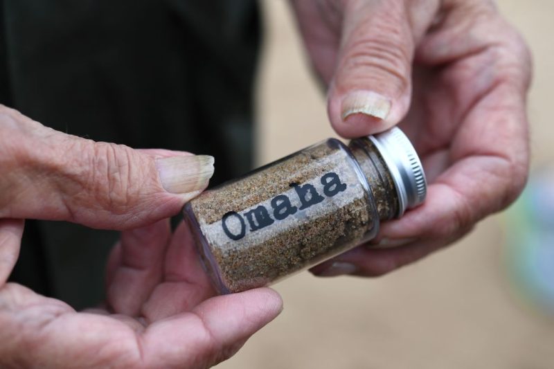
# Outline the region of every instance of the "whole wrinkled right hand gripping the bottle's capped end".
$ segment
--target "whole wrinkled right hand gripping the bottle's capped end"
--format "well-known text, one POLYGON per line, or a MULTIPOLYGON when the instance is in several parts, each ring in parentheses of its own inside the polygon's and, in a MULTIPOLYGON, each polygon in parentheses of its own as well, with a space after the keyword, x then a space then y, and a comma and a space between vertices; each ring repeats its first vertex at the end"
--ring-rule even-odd
POLYGON ((488 0, 292 1, 328 114, 344 137, 400 124, 420 154, 427 201, 374 243, 313 269, 377 276, 465 235, 526 181, 530 55, 488 0))

